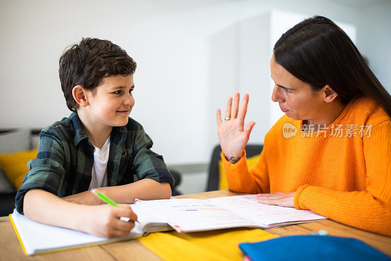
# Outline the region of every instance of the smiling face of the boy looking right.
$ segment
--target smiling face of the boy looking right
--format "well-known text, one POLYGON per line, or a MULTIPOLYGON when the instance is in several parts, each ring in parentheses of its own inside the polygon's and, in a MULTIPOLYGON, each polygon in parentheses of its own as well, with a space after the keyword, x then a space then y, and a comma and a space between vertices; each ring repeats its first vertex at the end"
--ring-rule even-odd
POLYGON ((133 74, 105 77, 104 83, 96 88, 95 95, 87 93, 89 118, 97 124, 125 126, 134 106, 133 89, 133 74))

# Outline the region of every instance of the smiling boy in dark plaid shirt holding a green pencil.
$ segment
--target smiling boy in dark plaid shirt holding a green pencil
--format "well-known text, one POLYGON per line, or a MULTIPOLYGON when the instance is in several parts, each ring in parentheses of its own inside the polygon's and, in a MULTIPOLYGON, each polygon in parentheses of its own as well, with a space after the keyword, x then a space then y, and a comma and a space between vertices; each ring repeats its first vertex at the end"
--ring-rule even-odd
POLYGON ((88 190, 99 188, 122 204, 170 198, 172 175, 150 150, 143 127, 128 117, 135 69, 133 59, 107 40, 82 39, 63 53, 61 88, 73 113, 42 130, 37 158, 16 195, 19 213, 99 237, 125 237, 137 220, 130 206, 103 204, 88 190))

